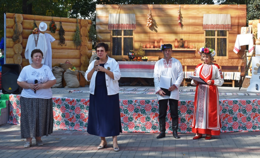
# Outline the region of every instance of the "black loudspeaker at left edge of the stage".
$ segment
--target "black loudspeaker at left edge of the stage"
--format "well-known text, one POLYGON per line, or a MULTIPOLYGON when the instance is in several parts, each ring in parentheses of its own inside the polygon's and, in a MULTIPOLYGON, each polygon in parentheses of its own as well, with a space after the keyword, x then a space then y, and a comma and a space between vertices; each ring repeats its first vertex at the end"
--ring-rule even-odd
POLYGON ((19 64, 2 65, 2 93, 3 94, 21 94, 22 87, 17 84, 17 79, 21 73, 19 64))

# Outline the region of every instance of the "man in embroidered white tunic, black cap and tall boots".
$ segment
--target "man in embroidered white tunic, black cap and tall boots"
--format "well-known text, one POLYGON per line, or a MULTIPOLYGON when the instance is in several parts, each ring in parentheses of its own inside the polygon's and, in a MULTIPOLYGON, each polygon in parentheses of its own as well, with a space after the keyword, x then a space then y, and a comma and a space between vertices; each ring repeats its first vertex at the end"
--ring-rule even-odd
MULTIPOLYGON (((164 54, 164 58, 160 59, 156 62, 154 66, 154 86, 155 92, 157 94, 158 102, 159 102, 159 125, 160 125, 160 135, 157 138, 165 137, 165 119, 168 109, 168 101, 171 110, 171 118, 172 118, 172 134, 173 137, 179 139, 178 124, 178 100, 179 100, 179 87, 181 82, 183 81, 183 70, 182 65, 179 60, 172 58, 172 45, 164 44, 161 46, 161 51, 164 54), (161 90, 159 86, 160 76, 171 77, 171 86, 168 88, 168 91, 171 91, 170 96, 165 95, 166 93, 161 90)), ((170 118, 169 118, 170 120, 170 118)))

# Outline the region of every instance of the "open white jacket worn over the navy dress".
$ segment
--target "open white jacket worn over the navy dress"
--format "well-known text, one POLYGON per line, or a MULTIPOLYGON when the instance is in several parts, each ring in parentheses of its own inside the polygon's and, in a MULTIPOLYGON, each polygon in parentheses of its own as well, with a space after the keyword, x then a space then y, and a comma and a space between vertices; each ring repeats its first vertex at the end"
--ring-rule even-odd
MULTIPOLYGON (((89 64, 88 70, 85 73, 86 80, 87 81, 91 81, 92 80, 92 82, 90 82, 90 85, 89 85, 89 92, 90 92, 90 94, 93 94, 93 95, 94 95, 94 91, 95 91, 95 80, 96 80, 97 71, 95 71, 93 73, 93 75, 91 77, 91 80, 88 80, 87 76, 88 76, 89 71, 91 71, 93 69, 95 61, 96 60, 93 60, 89 64)), ((120 73, 120 69, 119 69, 118 63, 115 61, 115 59, 108 57, 107 63, 105 63, 104 67, 106 69, 107 69, 107 67, 109 67, 110 71, 112 71, 113 74, 114 74, 114 80, 112 78, 110 78, 107 74, 105 75, 106 76, 106 85, 107 85, 107 95, 118 94, 119 93, 118 80, 121 77, 121 73, 120 73)))

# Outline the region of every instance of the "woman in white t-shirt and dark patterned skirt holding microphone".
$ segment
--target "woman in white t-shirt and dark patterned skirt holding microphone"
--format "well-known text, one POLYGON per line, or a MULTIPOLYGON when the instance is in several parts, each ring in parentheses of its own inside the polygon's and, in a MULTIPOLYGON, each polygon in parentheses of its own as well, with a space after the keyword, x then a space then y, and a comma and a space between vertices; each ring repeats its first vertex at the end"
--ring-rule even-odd
POLYGON ((26 138, 25 148, 35 137, 37 145, 43 145, 41 137, 53 132, 53 102, 51 87, 56 83, 51 69, 42 64, 40 49, 31 52, 32 63, 25 66, 17 79, 23 88, 21 104, 21 138, 26 138))

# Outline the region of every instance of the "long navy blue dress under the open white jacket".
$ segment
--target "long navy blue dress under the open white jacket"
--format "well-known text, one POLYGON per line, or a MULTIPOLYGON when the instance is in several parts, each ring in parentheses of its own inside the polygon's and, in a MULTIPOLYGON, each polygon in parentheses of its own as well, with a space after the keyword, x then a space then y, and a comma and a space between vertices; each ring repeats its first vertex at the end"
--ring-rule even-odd
MULTIPOLYGON (((104 65, 100 64, 102 67, 104 65)), ((89 95, 87 132, 99 137, 122 133, 119 94, 107 95, 105 72, 102 71, 96 74, 94 95, 89 95)))

